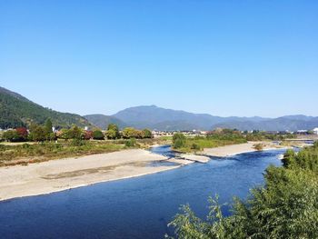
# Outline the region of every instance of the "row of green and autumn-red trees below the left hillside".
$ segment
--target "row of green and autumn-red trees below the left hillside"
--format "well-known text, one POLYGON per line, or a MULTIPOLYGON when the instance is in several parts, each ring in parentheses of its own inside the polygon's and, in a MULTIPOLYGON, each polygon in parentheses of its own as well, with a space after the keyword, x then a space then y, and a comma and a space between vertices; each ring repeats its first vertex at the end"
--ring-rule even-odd
POLYGON ((25 127, 18 127, 13 130, 7 130, 1 135, 1 140, 8 142, 45 142, 54 141, 57 139, 64 140, 104 140, 104 139, 144 139, 151 138, 152 133, 148 129, 137 130, 132 127, 124 128, 122 132, 116 124, 109 124, 107 130, 103 133, 99 129, 84 130, 78 126, 73 126, 69 129, 61 129, 59 131, 53 132, 53 125, 50 119, 47 119, 44 125, 31 124, 29 130, 25 127))

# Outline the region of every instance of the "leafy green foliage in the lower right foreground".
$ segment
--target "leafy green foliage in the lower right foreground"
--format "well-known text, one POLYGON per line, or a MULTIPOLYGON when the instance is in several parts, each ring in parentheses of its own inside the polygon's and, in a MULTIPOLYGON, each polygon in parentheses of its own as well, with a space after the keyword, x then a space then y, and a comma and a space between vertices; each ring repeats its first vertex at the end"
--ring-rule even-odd
POLYGON ((265 186, 254 188, 245 202, 235 198, 233 214, 210 199, 207 220, 189 205, 170 223, 177 238, 318 238, 318 143, 299 154, 288 151, 283 167, 269 166, 265 186))

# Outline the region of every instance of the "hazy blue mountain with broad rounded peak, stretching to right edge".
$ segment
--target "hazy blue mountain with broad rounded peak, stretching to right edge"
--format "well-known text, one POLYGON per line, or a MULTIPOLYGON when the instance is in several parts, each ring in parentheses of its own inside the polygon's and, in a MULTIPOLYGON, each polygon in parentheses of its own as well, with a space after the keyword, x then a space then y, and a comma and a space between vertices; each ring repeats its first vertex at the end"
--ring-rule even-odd
POLYGON ((113 116, 136 128, 156 130, 211 130, 223 127, 239 130, 296 131, 311 130, 318 126, 318 117, 305 115, 287 115, 273 119, 258 116, 220 117, 164 109, 155 105, 127 108, 113 116))

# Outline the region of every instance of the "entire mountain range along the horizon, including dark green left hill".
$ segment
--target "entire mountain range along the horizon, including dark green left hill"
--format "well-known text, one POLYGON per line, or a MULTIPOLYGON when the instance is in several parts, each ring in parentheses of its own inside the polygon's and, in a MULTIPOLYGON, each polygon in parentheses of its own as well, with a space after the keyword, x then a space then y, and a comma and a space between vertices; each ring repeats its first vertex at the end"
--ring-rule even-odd
POLYGON ((108 124, 120 128, 133 126, 155 130, 212 130, 236 128, 239 130, 296 131, 318 127, 318 117, 287 115, 279 118, 220 117, 208 114, 193 114, 180 110, 164 109, 155 105, 136 106, 124 109, 115 115, 75 115, 61 113, 37 105, 22 95, 0 87, 0 128, 43 124, 51 118, 55 126, 69 127, 95 125, 105 129, 108 124))

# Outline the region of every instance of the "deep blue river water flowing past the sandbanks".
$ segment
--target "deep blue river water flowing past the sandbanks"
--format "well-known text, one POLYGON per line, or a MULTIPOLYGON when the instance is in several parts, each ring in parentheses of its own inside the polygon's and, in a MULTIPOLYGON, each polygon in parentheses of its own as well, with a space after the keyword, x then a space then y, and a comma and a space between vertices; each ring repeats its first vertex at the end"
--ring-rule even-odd
MULTIPOLYGON (((154 149, 171 154, 168 147, 154 149)), ((207 198, 221 203, 263 184, 263 171, 283 150, 215 158, 176 170, 0 203, 0 238, 163 238, 180 204, 204 217, 207 198)), ((229 214, 224 210, 225 214, 229 214)))

